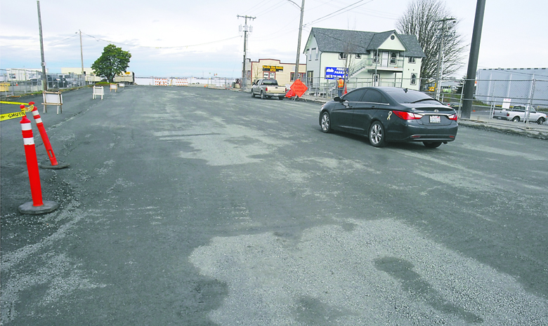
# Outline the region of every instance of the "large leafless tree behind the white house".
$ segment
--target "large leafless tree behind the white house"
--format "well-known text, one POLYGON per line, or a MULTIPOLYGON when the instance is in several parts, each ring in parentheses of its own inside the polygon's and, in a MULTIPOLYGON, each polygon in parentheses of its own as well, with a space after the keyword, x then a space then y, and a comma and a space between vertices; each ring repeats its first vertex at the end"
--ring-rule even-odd
POLYGON ((463 36, 457 32, 458 20, 446 23, 442 33, 443 18, 451 17, 441 0, 413 0, 407 6, 407 12, 396 22, 400 34, 417 36, 426 57, 421 66, 421 88, 436 78, 438 51, 443 34, 443 75, 450 76, 462 68, 462 54, 465 46, 463 36))

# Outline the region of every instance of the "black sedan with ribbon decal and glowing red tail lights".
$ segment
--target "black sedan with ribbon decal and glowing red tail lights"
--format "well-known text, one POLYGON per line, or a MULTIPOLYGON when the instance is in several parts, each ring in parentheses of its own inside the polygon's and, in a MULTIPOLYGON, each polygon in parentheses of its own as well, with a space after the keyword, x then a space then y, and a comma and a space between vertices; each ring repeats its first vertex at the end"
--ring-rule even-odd
POLYGON ((374 147, 386 142, 423 142, 430 148, 455 140, 457 112, 417 90, 365 87, 335 97, 320 109, 322 132, 341 130, 367 136, 374 147))

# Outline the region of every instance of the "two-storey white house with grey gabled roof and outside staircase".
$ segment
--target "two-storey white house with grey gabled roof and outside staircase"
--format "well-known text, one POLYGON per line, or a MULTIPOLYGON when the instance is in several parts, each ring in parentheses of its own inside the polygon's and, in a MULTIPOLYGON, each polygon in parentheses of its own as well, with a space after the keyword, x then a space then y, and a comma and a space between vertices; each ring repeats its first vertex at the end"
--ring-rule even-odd
POLYGON ((396 86, 419 90, 422 58, 415 35, 313 27, 304 48, 308 88, 396 86), (346 74, 346 76, 345 76, 346 74))

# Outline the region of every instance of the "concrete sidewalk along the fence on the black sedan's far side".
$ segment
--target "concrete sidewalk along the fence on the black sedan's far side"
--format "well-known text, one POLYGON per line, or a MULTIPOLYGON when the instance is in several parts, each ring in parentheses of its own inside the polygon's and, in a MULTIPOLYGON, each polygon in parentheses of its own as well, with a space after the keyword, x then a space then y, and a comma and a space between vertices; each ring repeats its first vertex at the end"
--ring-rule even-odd
MULTIPOLYGON (((310 95, 304 95, 303 97, 301 97, 301 99, 311 102, 318 102, 321 104, 330 101, 330 99, 314 97, 310 95)), ((488 112, 481 112, 478 114, 472 112, 470 118, 459 118, 458 122, 459 126, 463 127, 478 128, 496 131, 497 133, 507 133, 538 138, 541 140, 548 140, 548 122, 545 122, 542 125, 539 125, 536 122, 530 122, 527 128, 526 123, 523 122, 505 121, 490 118, 488 112)))

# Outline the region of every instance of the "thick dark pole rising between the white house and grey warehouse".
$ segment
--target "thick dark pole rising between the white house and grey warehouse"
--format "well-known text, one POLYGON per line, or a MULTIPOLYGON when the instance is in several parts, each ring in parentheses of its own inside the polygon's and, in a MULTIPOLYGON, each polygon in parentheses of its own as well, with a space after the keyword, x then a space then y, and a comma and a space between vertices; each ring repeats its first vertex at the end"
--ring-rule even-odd
POLYGON ((464 81, 461 118, 470 118, 472 113, 479 46, 481 43, 481 29, 483 27, 483 13, 485 13, 485 0, 478 0, 476 4, 476 18, 474 19, 474 32, 472 32, 472 43, 470 45, 470 56, 468 58, 467 80, 464 81))

